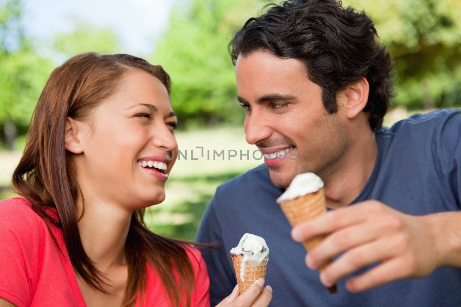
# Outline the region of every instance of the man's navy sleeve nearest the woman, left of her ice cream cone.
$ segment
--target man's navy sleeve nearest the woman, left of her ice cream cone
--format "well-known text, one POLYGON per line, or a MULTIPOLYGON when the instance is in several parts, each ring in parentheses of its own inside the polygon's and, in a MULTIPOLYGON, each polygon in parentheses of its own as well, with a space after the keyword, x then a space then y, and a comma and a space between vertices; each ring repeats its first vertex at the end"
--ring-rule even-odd
POLYGON ((195 242, 213 244, 213 248, 201 248, 210 278, 211 306, 218 305, 230 295, 236 285, 234 272, 231 270, 233 268, 228 263, 228 253, 225 252, 222 244, 221 227, 215 214, 215 202, 217 202, 218 194, 219 188, 203 214, 195 237, 195 242))

